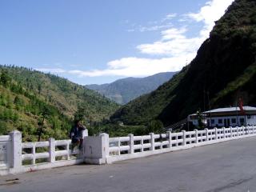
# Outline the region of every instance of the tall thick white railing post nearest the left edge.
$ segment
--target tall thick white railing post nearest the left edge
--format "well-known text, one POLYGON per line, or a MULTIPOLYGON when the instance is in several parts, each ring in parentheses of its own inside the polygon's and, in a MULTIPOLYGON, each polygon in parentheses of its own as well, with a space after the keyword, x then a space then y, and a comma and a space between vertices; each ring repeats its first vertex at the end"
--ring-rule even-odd
POLYGON ((14 130, 10 133, 12 146, 12 168, 18 173, 22 168, 22 133, 14 130))

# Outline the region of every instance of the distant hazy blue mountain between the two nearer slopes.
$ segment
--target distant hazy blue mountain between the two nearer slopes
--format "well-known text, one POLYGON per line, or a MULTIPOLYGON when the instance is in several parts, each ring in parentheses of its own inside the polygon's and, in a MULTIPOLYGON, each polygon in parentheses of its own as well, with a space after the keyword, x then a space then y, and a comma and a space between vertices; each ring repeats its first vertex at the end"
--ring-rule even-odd
POLYGON ((119 104, 126 104, 142 94, 148 94, 156 90, 164 82, 167 82, 177 72, 154 74, 146 78, 122 78, 112 83, 102 85, 88 85, 86 88, 96 90, 119 104))

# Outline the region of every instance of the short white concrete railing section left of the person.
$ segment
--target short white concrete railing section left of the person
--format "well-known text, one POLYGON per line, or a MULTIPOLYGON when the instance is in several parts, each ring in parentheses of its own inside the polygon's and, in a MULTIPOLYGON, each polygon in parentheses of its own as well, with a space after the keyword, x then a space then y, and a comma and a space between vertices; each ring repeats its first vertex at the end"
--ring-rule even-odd
MULTIPOLYGON (((88 136, 83 130, 83 138, 88 136)), ((17 174, 83 162, 84 150, 70 150, 71 140, 22 142, 19 131, 0 136, 0 175, 17 174)))

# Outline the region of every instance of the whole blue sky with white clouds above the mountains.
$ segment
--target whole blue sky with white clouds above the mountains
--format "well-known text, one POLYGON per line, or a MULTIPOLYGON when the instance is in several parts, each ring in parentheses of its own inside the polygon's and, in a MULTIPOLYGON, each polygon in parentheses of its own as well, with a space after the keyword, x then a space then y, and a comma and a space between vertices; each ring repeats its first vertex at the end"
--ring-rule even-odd
POLYGON ((1 1, 0 64, 82 85, 181 70, 233 1, 1 1))

